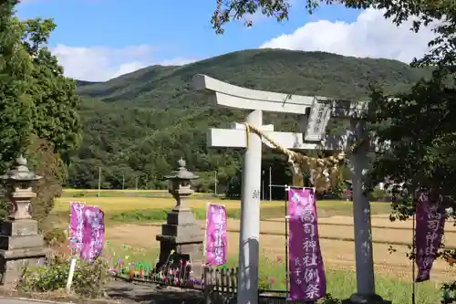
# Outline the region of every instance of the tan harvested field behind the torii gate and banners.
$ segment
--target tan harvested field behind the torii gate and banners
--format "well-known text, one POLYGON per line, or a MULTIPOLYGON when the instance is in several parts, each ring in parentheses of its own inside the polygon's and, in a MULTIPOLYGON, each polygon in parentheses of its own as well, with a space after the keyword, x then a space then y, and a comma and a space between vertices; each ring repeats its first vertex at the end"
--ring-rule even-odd
MULTIPOLYGON (((348 222, 347 218, 336 217, 335 223, 344 224, 348 222)), ((377 220, 377 219, 376 219, 377 220)), ((374 240, 381 241, 398 241, 408 243, 410 241, 410 233, 407 230, 395 229, 397 223, 390 223, 388 219, 378 218, 378 220, 387 220, 390 228, 374 228, 374 240)), ((374 221, 373 221, 374 222, 374 221)), ((387 222, 378 222, 376 224, 383 225, 387 222)), ((203 222, 201 222, 203 226, 203 222)), ((280 235, 267 235, 267 233, 283 234, 285 224, 281 222, 262 222, 260 236, 260 248, 264 255, 275 260, 275 257, 285 259, 285 237, 280 235), (266 234, 265 234, 266 233, 266 234)), ((399 225, 408 225, 407 223, 399 223, 399 225)), ((396 226, 397 227, 397 226, 396 226)), ((228 221, 228 230, 238 230, 239 221, 230 219, 228 221)), ((320 236, 323 237, 353 237, 353 227, 351 226, 335 226, 335 225, 319 225, 320 236)), ((109 227, 107 230, 107 238, 113 243, 128 243, 131 246, 140 247, 159 247, 159 243, 155 241, 155 237, 148 237, 148 243, 145 244, 145 236, 155 236, 161 232, 160 225, 118 225, 109 227)), ((456 236, 456 232, 451 235, 456 236)), ((448 238, 448 237, 447 237, 448 238)), ((451 237, 448 242, 451 246, 456 246, 456 237, 451 237)), ((238 252, 239 233, 228 233, 228 251, 230 255, 236 255, 238 252)), ((321 239, 320 244, 326 267, 333 269, 354 270, 355 268, 355 253, 354 245, 351 241, 321 239)), ((411 263, 406 257, 408 251, 407 246, 394 246, 397 250, 394 253, 389 253, 389 245, 374 244, 373 252, 375 259, 375 267, 378 273, 388 274, 397 278, 409 279, 411 277, 411 263)), ((444 261, 437 261, 432 271, 432 280, 443 281, 454 278, 455 269, 444 261)))

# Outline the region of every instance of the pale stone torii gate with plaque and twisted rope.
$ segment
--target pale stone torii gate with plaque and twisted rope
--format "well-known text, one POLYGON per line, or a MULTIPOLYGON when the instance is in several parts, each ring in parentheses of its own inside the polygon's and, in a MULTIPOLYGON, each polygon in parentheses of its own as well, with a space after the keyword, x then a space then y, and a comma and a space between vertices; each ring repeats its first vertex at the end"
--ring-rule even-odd
MULTIPOLYGON (((345 151, 349 142, 361 142, 368 138, 366 122, 361 119, 368 110, 366 102, 245 89, 201 74, 193 77, 193 88, 210 91, 217 105, 253 110, 246 122, 287 149, 345 151), (263 110, 300 115, 304 136, 302 132, 277 132, 273 125, 263 125, 263 110), (330 117, 350 120, 350 130, 346 135, 325 134, 330 117)), ((375 293, 370 204, 364 195, 363 182, 368 173, 368 141, 364 142, 366 144, 361 144, 350 153, 358 291, 350 300, 353 303, 377 303, 382 299, 375 293)), ((245 148, 237 303, 257 304, 262 138, 254 133, 246 135, 244 124, 234 123, 232 129, 210 129, 208 146, 245 148)))

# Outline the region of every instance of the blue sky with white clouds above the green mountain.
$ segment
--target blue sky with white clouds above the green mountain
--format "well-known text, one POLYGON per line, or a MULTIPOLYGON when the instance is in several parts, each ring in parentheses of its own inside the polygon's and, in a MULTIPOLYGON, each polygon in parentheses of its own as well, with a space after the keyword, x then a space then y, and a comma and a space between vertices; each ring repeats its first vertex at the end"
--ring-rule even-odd
MULTIPOLYGON (((183 64, 262 46, 340 50, 342 55, 382 57, 375 51, 369 54, 365 50, 358 54, 357 50, 353 53, 353 50, 345 49, 353 44, 368 44, 369 37, 379 36, 380 40, 383 39, 379 43, 390 37, 390 33, 363 29, 369 24, 378 29, 374 25, 378 19, 391 27, 390 22, 382 20, 379 12, 370 14, 376 18, 371 20, 372 16, 366 16, 367 12, 332 5, 320 7, 315 15, 309 16, 304 0, 292 1, 294 5, 288 21, 278 24, 274 19, 252 16, 252 28, 234 22, 225 27, 222 36, 215 35, 210 23, 215 0, 26 0, 18 6, 17 15, 21 18, 54 18, 57 29, 52 34, 50 47, 69 76, 91 80, 106 80, 150 64, 183 64), (366 20, 359 24, 363 15, 366 20), (341 42, 340 37, 345 36, 351 38, 341 42), (350 41, 353 37, 357 41, 350 41), (348 46, 341 47, 340 44, 348 46), (95 58, 88 58, 92 56, 95 58), (84 58, 88 61, 86 68, 80 67, 84 65, 80 62, 84 58), (96 71, 89 70, 97 68, 94 65, 99 65, 99 72, 104 72, 96 76, 96 71)), ((395 52, 400 53, 401 47, 396 48, 395 52)), ((391 56, 394 54, 385 57, 391 56)))

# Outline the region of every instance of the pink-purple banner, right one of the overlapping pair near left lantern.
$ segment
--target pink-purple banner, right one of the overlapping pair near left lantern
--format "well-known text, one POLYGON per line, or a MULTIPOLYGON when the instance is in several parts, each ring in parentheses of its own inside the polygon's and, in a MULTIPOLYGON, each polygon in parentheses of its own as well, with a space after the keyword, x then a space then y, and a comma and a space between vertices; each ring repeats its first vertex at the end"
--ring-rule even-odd
POLYGON ((86 206, 83 212, 84 234, 81 258, 94 261, 101 255, 105 243, 105 215, 98 207, 86 206))

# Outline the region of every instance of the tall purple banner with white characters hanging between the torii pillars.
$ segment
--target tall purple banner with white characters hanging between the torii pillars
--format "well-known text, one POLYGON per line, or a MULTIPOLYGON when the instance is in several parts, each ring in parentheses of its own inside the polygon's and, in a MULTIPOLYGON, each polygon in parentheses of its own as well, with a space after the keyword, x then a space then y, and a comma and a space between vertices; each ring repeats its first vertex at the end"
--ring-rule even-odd
POLYGON ((290 189, 288 202, 290 298, 315 301, 326 294, 315 195, 307 189, 290 189))

